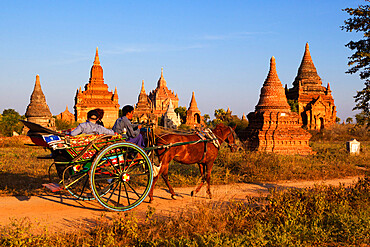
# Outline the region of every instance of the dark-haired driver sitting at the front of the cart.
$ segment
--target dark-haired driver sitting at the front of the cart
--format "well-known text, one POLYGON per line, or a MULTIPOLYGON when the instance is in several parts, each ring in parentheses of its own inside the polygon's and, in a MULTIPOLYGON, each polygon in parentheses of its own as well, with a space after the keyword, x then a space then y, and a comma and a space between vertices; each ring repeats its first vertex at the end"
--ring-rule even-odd
POLYGON ((145 147, 143 136, 140 134, 141 125, 132 124, 134 107, 126 105, 122 108, 123 117, 118 118, 113 126, 113 131, 118 134, 126 134, 127 141, 138 145, 141 148, 145 147))

